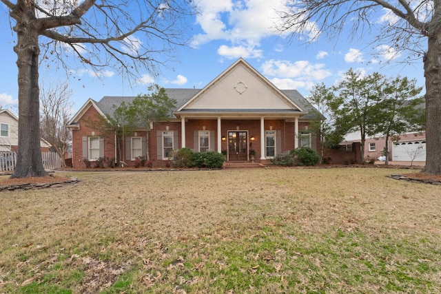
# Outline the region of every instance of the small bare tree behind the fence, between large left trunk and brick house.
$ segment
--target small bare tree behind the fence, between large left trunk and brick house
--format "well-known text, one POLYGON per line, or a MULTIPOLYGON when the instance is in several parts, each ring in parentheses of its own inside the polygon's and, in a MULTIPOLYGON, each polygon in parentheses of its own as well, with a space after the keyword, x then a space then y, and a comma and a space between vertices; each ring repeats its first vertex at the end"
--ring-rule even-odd
POLYGON ((60 156, 61 165, 65 167, 64 154, 68 151, 70 130, 66 127, 69 121, 72 91, 67 82, 41 88, 40 95, 40 132, 41 138, 50 143, 52 149, 60 156))

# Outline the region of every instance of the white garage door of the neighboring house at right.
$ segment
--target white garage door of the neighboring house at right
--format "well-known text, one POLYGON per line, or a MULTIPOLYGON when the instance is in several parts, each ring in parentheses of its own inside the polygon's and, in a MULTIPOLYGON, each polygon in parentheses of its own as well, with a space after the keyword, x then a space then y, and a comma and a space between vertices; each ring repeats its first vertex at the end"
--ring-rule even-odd
POLYGON ((393 143, 392 160, 426 161, 426 141, 406 141, 393 143))

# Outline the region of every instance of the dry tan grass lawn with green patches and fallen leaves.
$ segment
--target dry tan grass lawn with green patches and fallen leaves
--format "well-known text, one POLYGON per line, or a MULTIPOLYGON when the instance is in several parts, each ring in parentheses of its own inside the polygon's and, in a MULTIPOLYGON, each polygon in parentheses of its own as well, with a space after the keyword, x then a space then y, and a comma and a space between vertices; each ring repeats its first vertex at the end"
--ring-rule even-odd
POLYGON ((441 187, 393 173, 76 172, 2 192, 0 293, 440 293, 441 187))

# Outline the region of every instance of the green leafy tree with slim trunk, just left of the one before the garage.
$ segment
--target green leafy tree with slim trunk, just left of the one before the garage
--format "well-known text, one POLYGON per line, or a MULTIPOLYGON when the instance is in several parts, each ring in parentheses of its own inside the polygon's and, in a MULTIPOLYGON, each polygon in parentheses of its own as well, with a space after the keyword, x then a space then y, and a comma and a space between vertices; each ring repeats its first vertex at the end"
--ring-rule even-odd
POLYGON ((360 72, 351 69, 335 87, 340 99, 340 103, 332 105, 336 125, 345 134, 360 132, 360 162, 365 161, 366 136, 375 134, 383 84, 384 76, 377 72, 362 77, 360 72))

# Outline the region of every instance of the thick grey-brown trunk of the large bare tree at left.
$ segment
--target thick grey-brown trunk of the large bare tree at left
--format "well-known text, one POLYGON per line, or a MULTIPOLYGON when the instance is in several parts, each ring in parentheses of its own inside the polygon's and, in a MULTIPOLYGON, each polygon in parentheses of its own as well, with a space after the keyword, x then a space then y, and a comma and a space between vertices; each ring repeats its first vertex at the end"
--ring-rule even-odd
POLYGON ((27 24, 29 21, 33 20, 23 12, 21 21, 14 27, 17 32, 14 52, 19 70, 19 148, 17 167, 11 178, 47 175, 40 149, 39 34, 37 28, 27 24))

